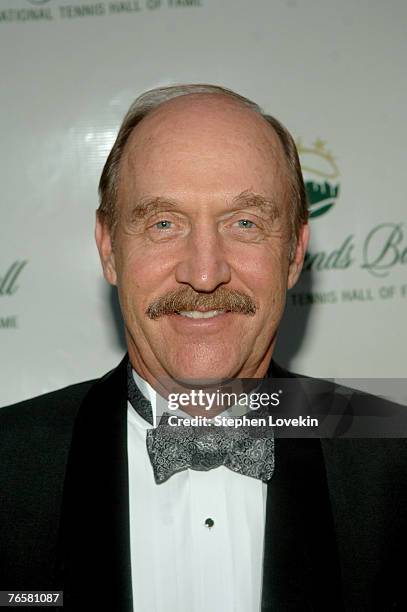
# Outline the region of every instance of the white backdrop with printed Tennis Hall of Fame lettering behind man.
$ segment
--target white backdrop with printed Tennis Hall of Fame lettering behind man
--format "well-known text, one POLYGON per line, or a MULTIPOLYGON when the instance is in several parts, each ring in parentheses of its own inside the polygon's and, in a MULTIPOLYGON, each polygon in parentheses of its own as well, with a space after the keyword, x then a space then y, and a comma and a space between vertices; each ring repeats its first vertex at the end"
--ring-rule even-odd
POLYGON ((174 82, 235 89, 299 141, 313 238, 280 361, 405 377, 406 20, 404 0, 0 0, 0 405, 122 356, 97 183, 130 102, 174 82))

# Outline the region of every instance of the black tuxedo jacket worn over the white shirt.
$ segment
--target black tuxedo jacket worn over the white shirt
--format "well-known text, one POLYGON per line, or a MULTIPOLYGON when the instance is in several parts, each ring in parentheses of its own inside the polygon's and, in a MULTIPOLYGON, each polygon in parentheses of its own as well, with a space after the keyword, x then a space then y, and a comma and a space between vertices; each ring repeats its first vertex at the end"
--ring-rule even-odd
MULTIPOLYGON (((0 410, 0 590, 132 610, 126 366, 0 410)), ((407 610, 406 442, 277 439, 275 464, 262 612, 407 610)))

